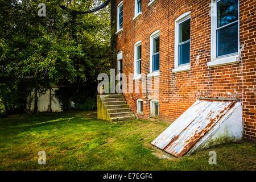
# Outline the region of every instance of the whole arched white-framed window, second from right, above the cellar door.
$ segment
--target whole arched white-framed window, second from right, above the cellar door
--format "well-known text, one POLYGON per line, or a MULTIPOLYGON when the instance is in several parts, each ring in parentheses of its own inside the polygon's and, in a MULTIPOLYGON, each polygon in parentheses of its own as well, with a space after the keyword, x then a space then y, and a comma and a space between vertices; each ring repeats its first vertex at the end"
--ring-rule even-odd
POLYGON ((174 73, 190 69, 190 14, 188 11, 175 20, 174 73))

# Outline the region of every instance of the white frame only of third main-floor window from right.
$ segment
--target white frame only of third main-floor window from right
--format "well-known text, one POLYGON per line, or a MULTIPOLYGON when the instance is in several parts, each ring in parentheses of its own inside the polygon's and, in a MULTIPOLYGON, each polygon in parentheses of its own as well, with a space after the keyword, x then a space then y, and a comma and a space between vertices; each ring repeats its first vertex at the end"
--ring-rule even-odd
MULTIPOLYGON (((147 77, 152 77, 152 76, 159 76, 160 75, 160 57, 159 57, 159 70, 157 71, 152 71, 153 69, 153 49, 154 49, 154 39, 156 37, 160 37, 160 30, 156 30, 154 31, 151 35, 150 35, 150 73, 147 75, 147 77)), ((160 42, 159 42, 159 54, 160 54, 160 42)))

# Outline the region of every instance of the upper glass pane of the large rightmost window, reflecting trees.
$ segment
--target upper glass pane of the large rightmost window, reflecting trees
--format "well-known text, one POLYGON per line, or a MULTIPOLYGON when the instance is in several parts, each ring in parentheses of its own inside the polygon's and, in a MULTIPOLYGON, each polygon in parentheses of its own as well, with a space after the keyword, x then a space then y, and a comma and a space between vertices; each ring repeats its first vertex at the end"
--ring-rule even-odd
POLYGON ((218 27, 232 23, 238 19, 238 0, 222 0, 218 2, 218 27))

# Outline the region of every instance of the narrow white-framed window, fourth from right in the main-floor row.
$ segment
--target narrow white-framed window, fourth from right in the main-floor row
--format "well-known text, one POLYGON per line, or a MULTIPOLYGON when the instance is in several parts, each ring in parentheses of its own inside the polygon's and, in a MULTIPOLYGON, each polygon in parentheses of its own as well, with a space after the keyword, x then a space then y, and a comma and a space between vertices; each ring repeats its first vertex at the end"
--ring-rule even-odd
POLYGON ((141 40, 134 45, 134 78, 141 77, 141 40))

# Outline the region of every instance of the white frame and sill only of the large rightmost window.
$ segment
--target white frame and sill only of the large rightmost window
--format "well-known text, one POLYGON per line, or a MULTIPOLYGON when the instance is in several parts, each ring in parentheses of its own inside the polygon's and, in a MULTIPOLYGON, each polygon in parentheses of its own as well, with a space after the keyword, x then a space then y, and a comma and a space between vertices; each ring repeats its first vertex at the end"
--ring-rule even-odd
POLYGON ((238 53, 232 55, 224 55, 217 57, 217 2, 221 0, 212 0, 211 12, 211 36, 210 36, 210 62, 207 63, 209 67, 216 67, 220 65, 228 65, 239 63, 240 61, 240 21, 239 21, 239 0, 238 0, 238 53))

